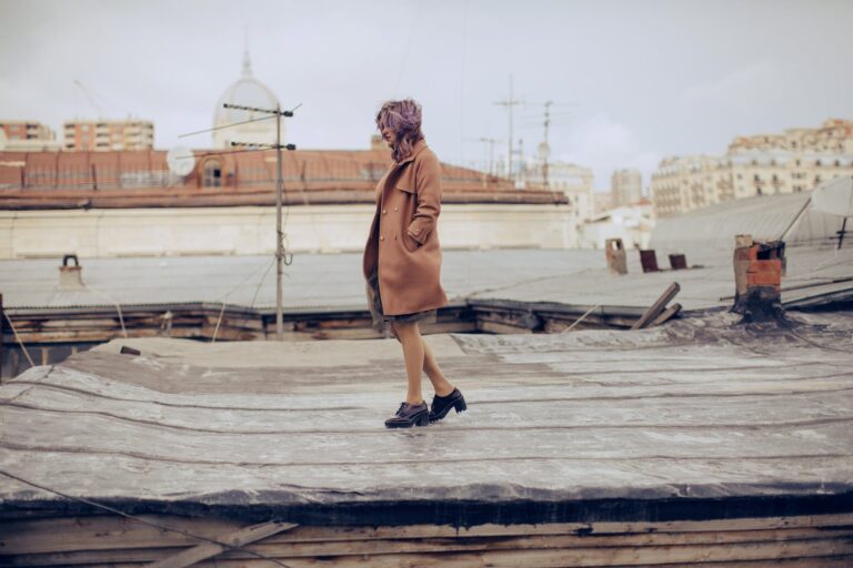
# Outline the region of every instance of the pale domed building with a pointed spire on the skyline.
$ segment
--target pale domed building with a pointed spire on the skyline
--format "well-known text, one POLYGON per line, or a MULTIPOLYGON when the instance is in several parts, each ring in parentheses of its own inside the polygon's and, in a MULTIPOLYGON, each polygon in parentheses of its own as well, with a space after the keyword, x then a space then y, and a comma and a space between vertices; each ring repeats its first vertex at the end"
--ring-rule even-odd
MULTIPOLYGON (((252 75, 252 62, 249 52, 243 54, 243 73, 234 81, 231 87, 220 97, 217 108, 213 111, 213 126, 223 126, 248 120, 261 119, 263 113, 244 111, 238 109, 225 109, 223 104, 241 104, 244 106, 257 106, 261 109, 274 109, 279 104, 269 87, 257 80, 252 75)), ((284 120, 281 120, 281 142, 284 143, 284 120)), ((230 149, 231 142, 274 144, 275 143, 275 119, 270 118, 258 122, 249 122, 229 129, 219 129, 213 131, 213 148, 230 149)))

